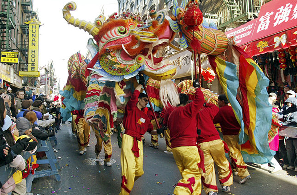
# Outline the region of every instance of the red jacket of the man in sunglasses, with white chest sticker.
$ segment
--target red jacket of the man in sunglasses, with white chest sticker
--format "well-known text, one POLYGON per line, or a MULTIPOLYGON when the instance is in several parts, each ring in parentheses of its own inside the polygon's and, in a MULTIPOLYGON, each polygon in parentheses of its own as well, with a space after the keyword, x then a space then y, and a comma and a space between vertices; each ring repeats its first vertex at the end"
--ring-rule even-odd
POLYGON ((152 131, 153 125, 150 123, 148 115, 136 107, 139 94, 140 92, 135 90, 131 99, 128 101, 125 108, 123 126, 126 130, 132 130, 143 135, 146 131, 152 131))

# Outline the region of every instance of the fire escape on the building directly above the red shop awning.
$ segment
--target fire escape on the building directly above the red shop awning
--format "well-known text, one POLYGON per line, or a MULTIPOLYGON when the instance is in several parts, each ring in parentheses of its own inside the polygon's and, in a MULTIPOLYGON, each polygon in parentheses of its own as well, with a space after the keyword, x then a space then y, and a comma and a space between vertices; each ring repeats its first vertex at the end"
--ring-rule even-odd
POLYGON ((264 0, 223 0, 214 7, 204 5, 205 18, 212 19, 218 29, 227 31, 258 17, 264 0))

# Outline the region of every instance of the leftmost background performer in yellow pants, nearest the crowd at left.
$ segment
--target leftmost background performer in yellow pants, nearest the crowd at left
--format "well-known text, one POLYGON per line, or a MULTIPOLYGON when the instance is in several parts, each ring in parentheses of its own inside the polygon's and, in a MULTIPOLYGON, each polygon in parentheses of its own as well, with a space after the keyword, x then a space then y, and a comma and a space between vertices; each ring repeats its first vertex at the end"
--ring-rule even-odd
POLYGON ((90 140, 90 126, 84 118, 84 110, 74 110, 72 113, 76 114, 75 123, 79 155, 83 155, 87 151, 90 140))

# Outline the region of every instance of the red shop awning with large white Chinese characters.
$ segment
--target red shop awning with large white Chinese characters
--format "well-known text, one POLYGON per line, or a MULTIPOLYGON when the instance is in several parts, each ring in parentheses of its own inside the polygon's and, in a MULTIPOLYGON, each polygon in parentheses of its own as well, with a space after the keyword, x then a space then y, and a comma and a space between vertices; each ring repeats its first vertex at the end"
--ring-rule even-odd
POLYGON ((249 56, 297 45, 297 1, 273 0, 261 7, 259 17, 226 32, 249 56))

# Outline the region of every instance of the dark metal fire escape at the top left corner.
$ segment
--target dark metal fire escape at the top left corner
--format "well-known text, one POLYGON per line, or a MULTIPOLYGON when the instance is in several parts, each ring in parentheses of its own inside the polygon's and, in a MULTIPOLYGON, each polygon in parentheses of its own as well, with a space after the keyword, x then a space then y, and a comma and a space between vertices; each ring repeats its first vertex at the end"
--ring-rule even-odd
POLYGON ((0 3, 0 49, 2 51, 10 51, 13 50, 11 30, 16 28, 15 2, 12 0, 1 0, 0 3))

